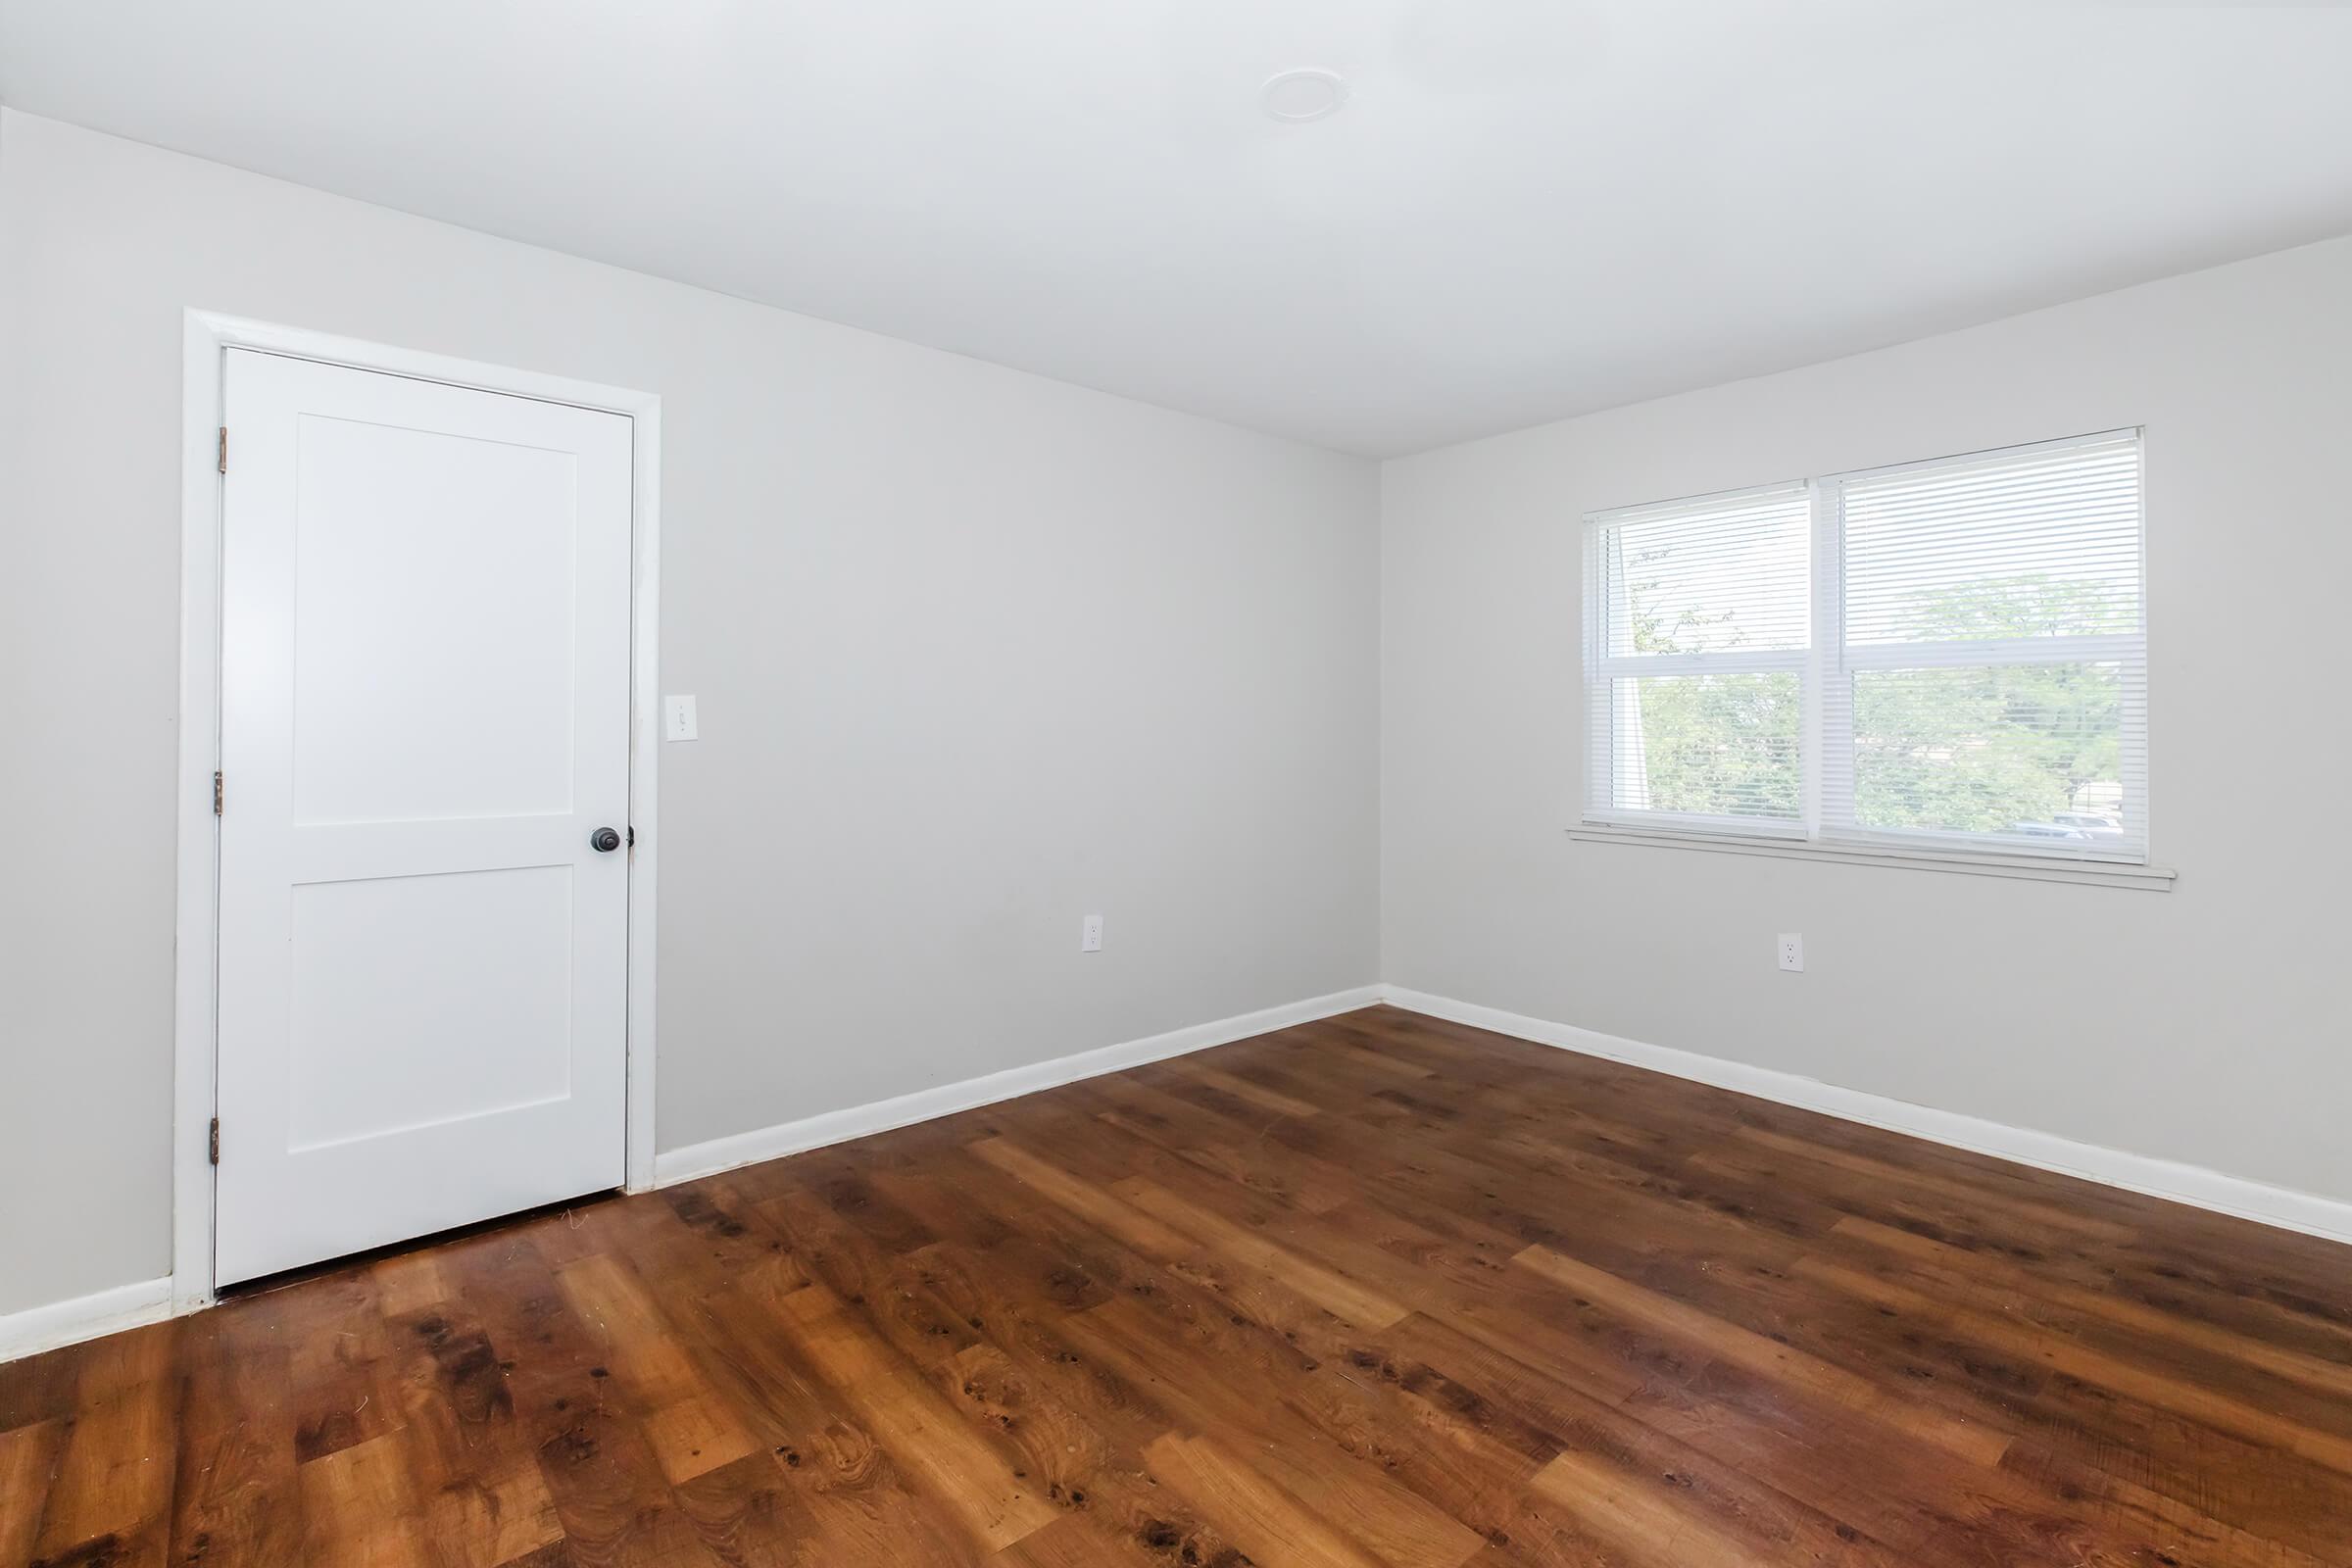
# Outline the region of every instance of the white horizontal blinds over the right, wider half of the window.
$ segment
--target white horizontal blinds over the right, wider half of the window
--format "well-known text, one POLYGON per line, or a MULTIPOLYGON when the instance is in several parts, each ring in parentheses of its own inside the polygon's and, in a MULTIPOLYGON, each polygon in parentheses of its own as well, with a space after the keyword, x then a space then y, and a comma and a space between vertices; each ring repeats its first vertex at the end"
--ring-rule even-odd
POLYGON ((2138 433, 1825 491, 1825 832, 2145 860, 2138 433))

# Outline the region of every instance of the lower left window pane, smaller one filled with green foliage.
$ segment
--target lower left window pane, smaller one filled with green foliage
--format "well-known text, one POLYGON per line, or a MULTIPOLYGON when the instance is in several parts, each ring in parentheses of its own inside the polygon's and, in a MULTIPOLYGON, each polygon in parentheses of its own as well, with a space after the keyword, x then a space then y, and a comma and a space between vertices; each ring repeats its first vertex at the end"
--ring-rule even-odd
POLYGON ((1797 820, 1804 698, 1795 672, 1644 675, 1609 686, 1621 811, 1797 820))

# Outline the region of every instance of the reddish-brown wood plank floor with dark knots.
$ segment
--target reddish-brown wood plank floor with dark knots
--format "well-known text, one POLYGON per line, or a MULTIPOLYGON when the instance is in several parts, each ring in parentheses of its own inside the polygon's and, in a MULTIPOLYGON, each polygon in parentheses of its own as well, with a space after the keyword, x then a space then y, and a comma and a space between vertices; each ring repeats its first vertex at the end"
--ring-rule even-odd
POLYGON ((0 1366, 0 1563, 2352 1563, 2352 1251, 1374 1009, 0 1366))

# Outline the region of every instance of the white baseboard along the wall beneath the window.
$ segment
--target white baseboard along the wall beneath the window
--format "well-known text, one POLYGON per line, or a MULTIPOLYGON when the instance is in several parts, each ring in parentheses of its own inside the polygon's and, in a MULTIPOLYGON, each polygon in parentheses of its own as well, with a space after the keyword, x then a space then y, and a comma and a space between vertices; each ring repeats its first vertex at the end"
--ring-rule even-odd
POLYGON ((2223 1175, 2220 1171, 2206 1171, 2204 1166, 2190 1166, 2176 1159, 2107 1150, 2096 1143, 2074 1143, 2072 1138, 2060 1138, 2056 1133, 2037 1133, 2023 1126, 2006 1126, 1980 1117, 1962 1117, 1950 1110, 1933 1110, 1931 1105, 1889 1100, 1886 1095, 1863 1093, 1860 1088, 1839 1088, 1837 1084, 1797 1077, 1795 1072, 1750 1067, 1748 1063, 1726 1063, 1719 1056, 1700 1056, 1696 1051, 1677 1051, 1672 1046, 1651 1046, 1639 1039, 1602 1034, 1599 1030, 1581 1030, 1571 1023, 1550 1023, 1545 1018, 1526 1018, 1522 1013, 1477 1006, 1475 1001, 1432 997, 1428 992, 1404 990, 1402 985, 1383 985, 1381 1001, 1402 1006, 1409 1013, 1449 1018, 1475 1030, 1515 1034, 1541 1046, 1559 1046, 1562 1051, 1599 1056, 1630 1067, 1649 1067, 1651 1072, 1665 1072, 1696 1084, 1712 1084, 1717 1088, 1755 1095, 1759 1100, 1795 1105, 1797 1110, 1816 1110, 1825 1117, 1842 1117, 1844 1121, 1860 1121, 1891 1133, 1910 1133, 1912 1138, 1945 1143, 1955 1150, 1969 1150, 1973 1154, 2011 1159, 2020 1166, 2039 1166, 2042 1171, 2079 1175, 2091 1182, 2105 1182, 2107 1187, 2145 1192, 2147 1197, 2171 1199, 2194 1208, 2211 1208, 2213 1213, 2253 1220, 2258 1225, 2277 1225, 2279 1229, 2298 1229, 2307 1237, 2326 1237, 2328 1241, 2352 1244, 2352 1204, 2319 1197, 2317 1192, 2272 1187, 2267 1182, 2246 1180, 2244 1175, 2223 1175))

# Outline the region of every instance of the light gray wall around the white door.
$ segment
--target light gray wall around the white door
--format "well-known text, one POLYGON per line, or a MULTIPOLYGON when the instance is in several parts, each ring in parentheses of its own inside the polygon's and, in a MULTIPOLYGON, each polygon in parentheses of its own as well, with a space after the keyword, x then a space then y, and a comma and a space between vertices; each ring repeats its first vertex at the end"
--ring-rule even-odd
POLYGON ((5 113, 0 1312, 169 1269, 186 306, 663 395, 663 1150, 1378 978, 1369 463, 5 113))

